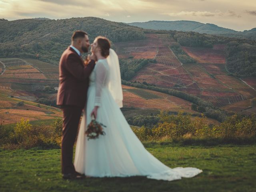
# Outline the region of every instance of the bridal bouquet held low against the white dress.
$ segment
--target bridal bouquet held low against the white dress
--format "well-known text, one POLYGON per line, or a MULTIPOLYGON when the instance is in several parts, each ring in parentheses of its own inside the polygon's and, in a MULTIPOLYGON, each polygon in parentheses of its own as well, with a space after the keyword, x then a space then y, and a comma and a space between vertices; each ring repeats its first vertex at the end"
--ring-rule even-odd
POLYGON ((106 127, 102 123, 99 123, 95 119, 93 119, 88 125, 88 129, 85 132, 85 134, 87 134, 88 140, 97 139, 99 135, 105 135, 106 133, 103 131, 102 126, 106 127))

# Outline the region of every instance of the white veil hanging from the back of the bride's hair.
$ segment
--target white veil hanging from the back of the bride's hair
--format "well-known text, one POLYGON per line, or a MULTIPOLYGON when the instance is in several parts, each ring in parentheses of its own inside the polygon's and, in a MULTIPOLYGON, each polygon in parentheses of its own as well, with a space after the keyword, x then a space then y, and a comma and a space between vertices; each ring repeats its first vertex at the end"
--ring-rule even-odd
POLYGON ((109 84, 108 88, 120 108, 123 107, 123 92, 121 83, 120 65, 116 52, 113 49, 109 50, 107 57, 109 66, 109 84))

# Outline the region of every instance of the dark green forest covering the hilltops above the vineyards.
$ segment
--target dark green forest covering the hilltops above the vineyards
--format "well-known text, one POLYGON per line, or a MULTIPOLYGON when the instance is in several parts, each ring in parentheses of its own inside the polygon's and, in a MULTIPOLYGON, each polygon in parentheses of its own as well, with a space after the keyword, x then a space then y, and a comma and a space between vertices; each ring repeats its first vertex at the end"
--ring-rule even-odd
MULTIPOLYGON (((92 42, 96 36, 103 35, 110 39, 112 47, 115 42, 143 40, 146 33, 170 34, 176 41, 171 48, 182 63, 194 63, 181 48, 203 47, 212 48, 214 44, 226 44, 227 70, 234 76, 256 76, 256 41, 249 39, 230 38, 197 32, 181 32, 168 30, 145 30, 120 22, 112 22, 95 17, 70 19, 22 19, 0 20, 0 57, 37 58, 58 65, 62 52, 70 44, 70 37, 75 30, 88 32, 92 42)), ((121 61, 132 66, 128 74, 122 77, 130 79, 145 64, 135 61, 121 61), (136 67, 134 67, 136 66, 136 67)), ((123 65, 123 69, 127 70, 123 65)))

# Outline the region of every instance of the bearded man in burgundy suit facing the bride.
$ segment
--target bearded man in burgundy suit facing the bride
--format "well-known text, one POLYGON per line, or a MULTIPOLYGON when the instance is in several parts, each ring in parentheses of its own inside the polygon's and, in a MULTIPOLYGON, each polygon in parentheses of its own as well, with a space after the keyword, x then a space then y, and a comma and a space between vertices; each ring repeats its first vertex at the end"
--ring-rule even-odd
POLYGON ((84 66, 81 53, 88 52, 89 46, 90 42, 86 32, 74 32, 72 43, 63 52, 59 63, 60 84, 57 105, 61 106, 63 112, 61 166, 64 179, 83 177, 75 171, 72 159, 80 116, 86 104, 89 76, 96 60, 92 54, 89 56, 89 64, 84 66))

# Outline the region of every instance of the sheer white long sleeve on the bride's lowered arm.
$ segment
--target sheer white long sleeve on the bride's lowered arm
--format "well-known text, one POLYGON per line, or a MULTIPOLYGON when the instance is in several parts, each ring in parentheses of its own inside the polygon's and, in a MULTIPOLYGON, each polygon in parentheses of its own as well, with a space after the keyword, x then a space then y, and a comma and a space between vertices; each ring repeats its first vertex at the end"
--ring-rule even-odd
POLYGON ((98 62, 95 66, 95 81, 96 81, 96 93, 95 93, 95 102, 94 106, 101 105, 101 92, 104 86, 104 82, 106 79, 106 67, 102 62, 98 62))

